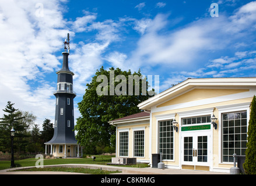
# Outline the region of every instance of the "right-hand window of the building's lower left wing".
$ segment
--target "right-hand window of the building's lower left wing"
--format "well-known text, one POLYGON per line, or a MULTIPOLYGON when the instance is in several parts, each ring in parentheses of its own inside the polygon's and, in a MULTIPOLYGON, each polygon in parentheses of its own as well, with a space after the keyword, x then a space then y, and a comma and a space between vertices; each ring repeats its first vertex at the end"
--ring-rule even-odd
POLYGON ((134 131, 134 156, 144 156, 144 130, 134 131))

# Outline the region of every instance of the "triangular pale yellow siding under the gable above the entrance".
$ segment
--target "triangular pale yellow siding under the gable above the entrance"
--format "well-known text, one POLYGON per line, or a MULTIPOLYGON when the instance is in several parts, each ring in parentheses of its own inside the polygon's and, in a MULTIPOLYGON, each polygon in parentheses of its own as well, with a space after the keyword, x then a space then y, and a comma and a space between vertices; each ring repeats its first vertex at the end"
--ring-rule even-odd
POLYGON ((239 89, 194 89, 183 95, 177 96, 170 101, 164 102, 158 105, 157 108, 175 105, 178 103, 185 103, 190 101, 197 101, 199 99, 214 98, 223 95, 237 94, 241 92, 248 92, 249 90, 239 90, 239 89))

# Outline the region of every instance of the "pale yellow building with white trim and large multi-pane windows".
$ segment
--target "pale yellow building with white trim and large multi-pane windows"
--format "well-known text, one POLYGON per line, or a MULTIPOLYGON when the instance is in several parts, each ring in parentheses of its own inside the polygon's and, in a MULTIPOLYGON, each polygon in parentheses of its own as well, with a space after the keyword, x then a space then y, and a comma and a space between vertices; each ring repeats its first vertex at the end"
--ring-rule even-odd
POLYGON ((110 121, 116 156, 152 166, 162 152, 166 168, 229 173, 233 153, 245 155, 254 95, 255 77, 188 78, 140 103, 146 112, 110 121))

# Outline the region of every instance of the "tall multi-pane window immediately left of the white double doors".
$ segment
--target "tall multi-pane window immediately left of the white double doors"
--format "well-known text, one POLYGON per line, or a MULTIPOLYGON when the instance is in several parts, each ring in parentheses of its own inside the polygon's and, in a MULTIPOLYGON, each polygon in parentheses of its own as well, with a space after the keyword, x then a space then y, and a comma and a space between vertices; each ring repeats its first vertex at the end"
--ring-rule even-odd
POLYGON ((173 160, 173 120, 159 121, 159 153, 163 159, 173 160))

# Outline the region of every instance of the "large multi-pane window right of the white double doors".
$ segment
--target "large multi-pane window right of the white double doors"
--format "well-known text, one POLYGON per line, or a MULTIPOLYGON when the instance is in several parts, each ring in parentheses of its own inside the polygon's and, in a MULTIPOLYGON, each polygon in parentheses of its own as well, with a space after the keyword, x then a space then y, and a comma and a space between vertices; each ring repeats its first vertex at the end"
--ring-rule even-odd
POLYGON ((245 155, 247 143, 247 112, 222 114, 222 161, 233 162, 233 153, 245 155))

